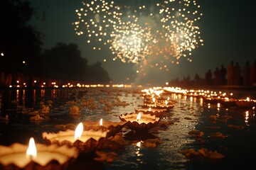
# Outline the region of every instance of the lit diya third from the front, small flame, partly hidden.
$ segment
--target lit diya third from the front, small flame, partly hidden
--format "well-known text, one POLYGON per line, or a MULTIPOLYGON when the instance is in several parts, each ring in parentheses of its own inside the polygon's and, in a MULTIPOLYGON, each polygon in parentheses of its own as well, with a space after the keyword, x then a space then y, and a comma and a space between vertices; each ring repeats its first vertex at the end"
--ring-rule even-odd
POLYGON ((103 132, 107 132, 106 137, 110 137, 120 132, 127 122, 112 122, 100 119, 100 123, 99 121, 84 121, 82 124, 85 130, 102 130, 103 132))

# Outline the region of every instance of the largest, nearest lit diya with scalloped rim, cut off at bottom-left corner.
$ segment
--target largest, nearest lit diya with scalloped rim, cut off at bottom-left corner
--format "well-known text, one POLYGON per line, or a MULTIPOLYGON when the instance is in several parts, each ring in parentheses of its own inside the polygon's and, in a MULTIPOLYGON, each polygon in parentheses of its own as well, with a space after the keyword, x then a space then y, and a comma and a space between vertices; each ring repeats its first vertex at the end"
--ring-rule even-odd
POLYGON ((0 169, 67 169, 77 157, 75 147, 36 144, 31 137, 28 146, 0 146, 0 169))

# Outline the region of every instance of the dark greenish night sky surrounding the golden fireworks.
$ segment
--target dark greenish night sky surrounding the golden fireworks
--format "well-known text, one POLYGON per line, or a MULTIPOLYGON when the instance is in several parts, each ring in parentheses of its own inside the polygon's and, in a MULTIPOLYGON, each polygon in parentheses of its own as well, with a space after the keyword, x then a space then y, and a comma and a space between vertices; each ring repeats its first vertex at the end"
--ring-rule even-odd
POLYGON ((117 84, 134 81, 136 84, 163 85, 177 77, 183 79, 190 75, 193 79, 196 73, 203 78, 208 69, 214 72, 221 64, 227 67, 231 60, 238 62, 240 67, 247 61, 252 64, 256 60, 256 14, 252 1, 198 0, 197 3, 201 6, 199 11, 203 13, 198 26, 204 45, 193 50, 193 61, 181 59, 180 64, 171 64, 168 72, 149 67, 146 68, 146 75, 136 73, 136 64, 119 60, 113 62, 107 47, 102 47, 100 51, 92 50, 85 36, 75 34, 72 23, 78 20, 75 10, 82 7, 80 0, 31 0, 31 6, 37 13, 31 24, 45 35, 44 48, 54 47, 58 42, 76 43, 82 57, 87 58, 89 64, 102 62, 102 67, 110 74, 113 83, 117 84), (103 62, 104 59, 107 62, 103 62))

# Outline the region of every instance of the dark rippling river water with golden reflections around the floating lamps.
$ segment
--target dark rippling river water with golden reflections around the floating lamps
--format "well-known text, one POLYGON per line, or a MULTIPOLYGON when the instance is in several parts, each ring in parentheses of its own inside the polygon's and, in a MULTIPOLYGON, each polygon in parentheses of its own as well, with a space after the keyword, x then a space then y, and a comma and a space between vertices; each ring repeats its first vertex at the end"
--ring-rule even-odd
MULTIPOLYGON (((124 152, 116 151, 121 159, 104 164, 103 168, 102 163, 90 163, 92 169, 97 166, 102 169, 221 169, 221 164, 230 164, 241 157, 243 161, 248 159, 244 149, 255 152, 250 149, 256 142, 255 111, 223 108, 219 103, 204 103, 202 98, 181 94, 165 94, 164 98, 175 101, 174 108, 164 113, 157 128, 142 133, 124 128, 122 133, 129 145, 124 152), (230 125, 242 128, 229 128, 230 125), (191 130, 202 131, 204 135, 200 139, 191 137, 188 135, 191 130), (213 132, 222 132, 225 138, 210 137, 213 132), (156 138, 161 144, 145 147, 144 141, 156 138), (225 159, 191 162, 181 154, 183 149, 202 147, 224 154, 225 159)), ((61 125, 100 121, 100 118, 119 122, 119 115, 134 113, 134 108, 143 104, 143 96, 139 89, 10 89, 1 91, 0 102, 0 144, 11 145, 26 143, 31 136, 44 142, 41 133, 60 130, 61 125), (43 105, 50 107, 50 113, 40 113, 43 105), (79 114, 70 114, 72 106, 78 107, 79 114), (43 120, 31 121, 35 113, 40 113, 43 120), (7 120, 6 115, 9 115, 7 120)), ((85 162, 78 160, 77 164, 85 162)), ((76 169, 90 169, 90 166, 73 165, 76 169)))

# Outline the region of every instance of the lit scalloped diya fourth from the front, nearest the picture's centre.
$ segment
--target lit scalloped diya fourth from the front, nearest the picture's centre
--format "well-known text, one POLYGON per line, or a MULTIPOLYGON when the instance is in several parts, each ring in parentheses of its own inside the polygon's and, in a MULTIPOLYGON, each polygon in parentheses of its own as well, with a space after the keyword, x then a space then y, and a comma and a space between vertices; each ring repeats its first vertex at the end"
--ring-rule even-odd
POLYGON ((127 126, 131 130, 144 131, 150 130, 161 120, 156 115, 146 114, 146 113, 126 113, 119 115, 119 119, 127 122, 127 126))

